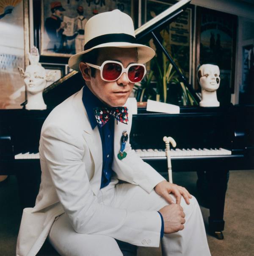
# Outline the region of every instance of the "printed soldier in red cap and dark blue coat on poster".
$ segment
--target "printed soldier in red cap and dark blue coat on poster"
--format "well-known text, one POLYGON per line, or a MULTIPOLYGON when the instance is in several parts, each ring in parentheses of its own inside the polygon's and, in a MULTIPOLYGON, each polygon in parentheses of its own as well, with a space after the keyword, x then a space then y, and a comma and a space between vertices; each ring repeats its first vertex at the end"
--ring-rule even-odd
POLYGON ((45 20, 45 29, 50 38, 47 49, 54 52, 61 52, 64 45, 63 30, 66 23, 63 22, 63 8, 61 2, 55 1, 50 3, 51 16, 45 20))

